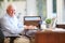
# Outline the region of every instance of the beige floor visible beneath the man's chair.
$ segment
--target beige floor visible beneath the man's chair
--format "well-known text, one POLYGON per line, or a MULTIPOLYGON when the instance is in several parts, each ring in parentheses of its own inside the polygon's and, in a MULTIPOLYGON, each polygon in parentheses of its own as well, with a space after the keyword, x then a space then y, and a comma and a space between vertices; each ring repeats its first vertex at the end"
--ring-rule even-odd
MULTIPOLYGON (((10 43, 10 38, 5 38, 4 39, 4 43, 10 43)), ((14 41, 14 43, 35 43, 35 39, 31 39, 30 42, 28 40, 25 40, 25 39, 16 39, 14 41)))

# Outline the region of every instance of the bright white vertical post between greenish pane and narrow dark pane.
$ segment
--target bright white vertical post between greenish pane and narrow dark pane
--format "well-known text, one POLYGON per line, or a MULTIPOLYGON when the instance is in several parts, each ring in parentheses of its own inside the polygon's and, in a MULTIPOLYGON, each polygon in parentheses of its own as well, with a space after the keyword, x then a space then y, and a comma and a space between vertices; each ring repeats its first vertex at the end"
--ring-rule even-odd
POLYGON ((47 0, 47 17, 51 18, 53 15, 53 0, 47 0))

